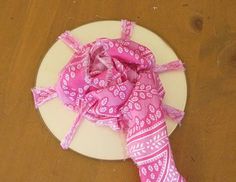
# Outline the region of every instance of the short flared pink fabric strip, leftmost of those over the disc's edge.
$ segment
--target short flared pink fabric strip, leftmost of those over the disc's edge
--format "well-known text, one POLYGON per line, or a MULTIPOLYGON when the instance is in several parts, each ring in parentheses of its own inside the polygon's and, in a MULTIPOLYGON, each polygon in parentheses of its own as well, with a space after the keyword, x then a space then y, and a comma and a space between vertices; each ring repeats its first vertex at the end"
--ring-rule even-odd
POLYGON ((49 88, 32 88, 35 108, 38 108, 45 102, 57 97, 57 92, 53 87, 49 88))

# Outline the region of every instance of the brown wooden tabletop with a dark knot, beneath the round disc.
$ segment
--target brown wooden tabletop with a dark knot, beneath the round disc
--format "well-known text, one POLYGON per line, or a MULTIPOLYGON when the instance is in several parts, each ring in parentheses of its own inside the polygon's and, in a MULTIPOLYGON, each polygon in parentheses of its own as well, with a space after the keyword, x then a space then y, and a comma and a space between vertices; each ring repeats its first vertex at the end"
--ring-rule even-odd
POLYGON ((131 160, 101 161, 63 151, 35 111, 30 92, 60 33, 126 18, 162 36, 186 64, 186 116, 170 137, 178 169, 190 182, 235 182, 235 10, 231 0, 1 0, 0 181, 139 181, 131 160))

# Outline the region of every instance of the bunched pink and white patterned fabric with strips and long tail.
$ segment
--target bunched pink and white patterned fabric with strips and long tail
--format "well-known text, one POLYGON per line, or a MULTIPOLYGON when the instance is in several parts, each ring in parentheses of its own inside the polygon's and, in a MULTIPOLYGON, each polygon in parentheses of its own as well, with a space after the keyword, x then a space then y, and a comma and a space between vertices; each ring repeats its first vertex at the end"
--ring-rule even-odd
POLYGON ((156 65, 153 53, 130 40, 135 23, 122 20, 121 38, 99 38, 82 45, 70 32, 59 39, 74 54, 53 87, 33 88, 36 108, 58 97, 78 113, 61 141, 67 149, 82 117, 97 125, 123 130, 127 151, 142 182, 183 182, 175 167, 165 117, 180 123, 184 112, 163 103, 159 73, 184 70, 180 60, 156 65))

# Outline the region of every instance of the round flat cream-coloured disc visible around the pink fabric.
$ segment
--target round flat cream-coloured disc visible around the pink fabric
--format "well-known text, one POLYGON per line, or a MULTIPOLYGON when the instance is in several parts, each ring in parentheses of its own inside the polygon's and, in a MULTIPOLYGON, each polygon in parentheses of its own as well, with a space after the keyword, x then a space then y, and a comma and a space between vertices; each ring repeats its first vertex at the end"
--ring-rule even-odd
MULTIPOLYGON (((96 38, 120 37, 119 21, 98 21, 83 25, 72 30, 72 34, 82 43, 94 41, 96 38)), ((174 51, 156 34, 136 25, 132 40, 149 47, 155 54, 158 63, 167 63, 177 59, 174 51)), ((44 57, 38 70, 36 86, 53 86, 58 73, 68 62, 73 52, 61 41, 56 41, 44 57)), ((187 86, 184 72, 175 71, 161 74, 166 90, 165 103, 184 110, 187 98, 187 86)), ((63 106, 59 99, 53 99, 39 108, 43 121, 49 130, 61 140, 68 131, 76 114, 63 106)), ((168 133, 176 128, 176 124, 167 120, 168 133)), ((110 128, 99 127, 84 120, 70 148, 80 154, 107 160, 125 158, 124 137, 110 128)), ((60 147, 58 143, 58 147, 60 147)))

